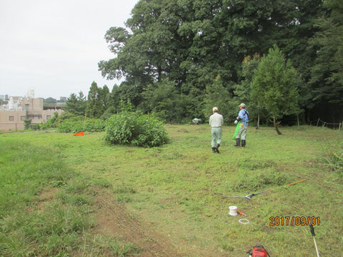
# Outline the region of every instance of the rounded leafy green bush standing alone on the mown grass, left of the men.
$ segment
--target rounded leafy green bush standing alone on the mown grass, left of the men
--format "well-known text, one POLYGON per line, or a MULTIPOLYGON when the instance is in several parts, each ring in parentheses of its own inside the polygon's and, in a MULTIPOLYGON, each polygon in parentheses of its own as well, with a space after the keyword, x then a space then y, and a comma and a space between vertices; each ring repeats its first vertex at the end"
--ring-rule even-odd
POLYGON ((105 141, 111 144, 154 147, 169 141, 163 123, 154 116, 123 111, 114 114, 106 124, 105 141))

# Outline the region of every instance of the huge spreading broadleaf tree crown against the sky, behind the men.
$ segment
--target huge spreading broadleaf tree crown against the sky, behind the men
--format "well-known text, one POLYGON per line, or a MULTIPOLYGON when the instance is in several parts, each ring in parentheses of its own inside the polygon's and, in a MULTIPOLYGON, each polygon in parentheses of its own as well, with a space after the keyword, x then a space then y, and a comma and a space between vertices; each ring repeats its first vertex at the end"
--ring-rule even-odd
POLYGON ((142 93, 169 79, 180 98, 192 101, 189 114, 204 118, 206 89, 217 76, 234 95, 244 80, 244 56, 278 44, 304 78, 302 107, 312 108, 307 82, 316 49, 308 42, 318 30, 322 0, 140 0, 131 14, 126 28, 106 32, 114 58, 99 62, 107 79, 125 79, 124 89, 116 89, 124 94, 119 99, 149 106, 142 93))

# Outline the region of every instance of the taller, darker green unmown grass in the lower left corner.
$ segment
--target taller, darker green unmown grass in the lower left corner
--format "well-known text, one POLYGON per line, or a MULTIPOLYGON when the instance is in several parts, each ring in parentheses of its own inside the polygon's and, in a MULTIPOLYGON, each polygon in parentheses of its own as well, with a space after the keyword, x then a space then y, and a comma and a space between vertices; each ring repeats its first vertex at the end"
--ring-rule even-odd
POLYGON ((131 244, 91 233, 92 192, 84 176, 64 165, 61 148, 24 138, 1 136, 0 256, 136 253, 131 244), (53 190, 56 198, 42 203, 53 190))

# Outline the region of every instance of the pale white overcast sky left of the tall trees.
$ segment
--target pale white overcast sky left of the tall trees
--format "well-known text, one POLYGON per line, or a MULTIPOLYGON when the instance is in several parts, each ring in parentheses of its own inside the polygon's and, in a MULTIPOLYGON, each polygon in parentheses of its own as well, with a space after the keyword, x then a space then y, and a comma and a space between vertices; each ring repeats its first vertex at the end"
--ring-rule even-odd
POLYGON ((92 81, 109 89, 98 62, 113 58, 104 34, 124 26, 138 0, 0 0, 0 95, 59 99, 92 81))

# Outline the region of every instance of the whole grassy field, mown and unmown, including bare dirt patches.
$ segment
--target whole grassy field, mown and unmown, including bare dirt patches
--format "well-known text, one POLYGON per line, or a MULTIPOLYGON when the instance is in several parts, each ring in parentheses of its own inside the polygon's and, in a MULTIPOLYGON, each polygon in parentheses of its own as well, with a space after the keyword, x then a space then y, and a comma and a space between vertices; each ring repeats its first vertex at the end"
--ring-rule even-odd
POLYGON ((308 226, 269 226, 272 216, 319 217, 321 255, 340 254, 343 178, 323 156, 342 132, 250 129, 234 148, 228 126, 214 154, 208 126, 166 128, 159 148, 108 146, 104 133, 0 135, 0 256, 247 256, 256 244, 315 256, 308 226))

